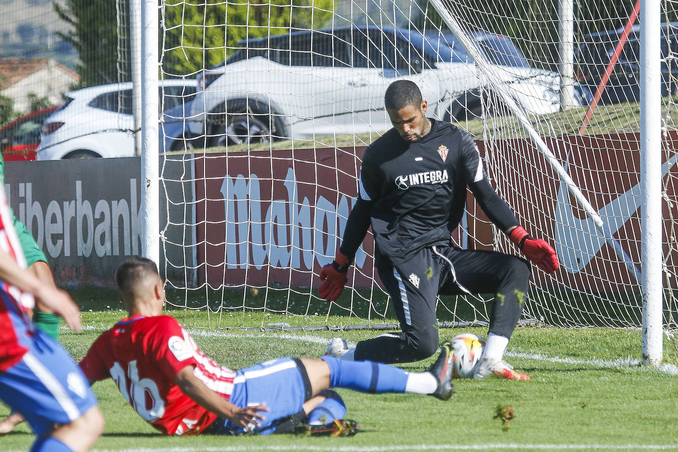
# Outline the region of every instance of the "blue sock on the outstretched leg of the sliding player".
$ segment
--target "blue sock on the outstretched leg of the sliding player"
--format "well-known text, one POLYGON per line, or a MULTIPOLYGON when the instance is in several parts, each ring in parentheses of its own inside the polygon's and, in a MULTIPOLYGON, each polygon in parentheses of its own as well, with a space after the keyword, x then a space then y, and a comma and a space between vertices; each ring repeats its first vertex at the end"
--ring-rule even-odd
POLYGON ((405 392, 407 372, 372 361, 344 361, 321 356, 330 366, 330 387, 360 392, 405 392))

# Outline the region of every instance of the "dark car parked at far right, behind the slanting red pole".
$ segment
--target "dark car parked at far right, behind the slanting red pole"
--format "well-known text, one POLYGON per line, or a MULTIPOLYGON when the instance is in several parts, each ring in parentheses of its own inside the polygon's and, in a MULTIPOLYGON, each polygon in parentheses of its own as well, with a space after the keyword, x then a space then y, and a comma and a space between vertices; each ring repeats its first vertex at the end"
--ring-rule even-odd
MULTIPOLYGON (((661 73, 662 97, 678 93, 678 62, 670 58, 678 53, 678 22, 666 22, 662 26, 661 73), (667 58, 669 57, 669 58, 667 58), (671 75, 673 74, 673 77, 671 75)), ((576 52, 576 77, 592 93, 605 75, 624 28, 591 33, 582 37, 582 45, 576 52)), ((624 43, 619 59, 610 74, 601 94, 601 104, 637 102, 640 99, 640 25, 631 28, 629 39, 624 43)))

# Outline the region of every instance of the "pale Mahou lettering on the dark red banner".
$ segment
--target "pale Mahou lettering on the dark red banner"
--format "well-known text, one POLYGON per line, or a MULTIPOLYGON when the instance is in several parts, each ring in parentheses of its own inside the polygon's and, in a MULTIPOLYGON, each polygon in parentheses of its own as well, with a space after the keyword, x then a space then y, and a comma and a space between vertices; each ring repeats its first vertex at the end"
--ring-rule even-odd
MULTIPOLYGON (((262 201, 256 174, 224 177, 221 193, 226 211, 226 268, 261 269, 268 264, 279 268, 313 268, 330 264, 342 237, 355 198, 342 194, 330 201, 323 196, 312 203, 300 199, 294 169, 287 170, 281 199, 262 201), (266 206, 266 207, 264 207, 266 206)), ((367 254, 363 247, 354 264, 362 267, 367 254)))

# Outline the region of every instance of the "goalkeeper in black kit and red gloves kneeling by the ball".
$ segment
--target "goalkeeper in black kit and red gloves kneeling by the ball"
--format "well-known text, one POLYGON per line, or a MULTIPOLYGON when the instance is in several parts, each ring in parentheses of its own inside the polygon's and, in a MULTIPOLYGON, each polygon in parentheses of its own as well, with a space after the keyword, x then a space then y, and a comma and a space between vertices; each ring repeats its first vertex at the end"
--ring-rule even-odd
POLYGON ((439 347, 436 297, 495 293, 490 331, 473 377, 530 379, 503 360, 527 294, 530 264, 497 251, 465 250, 451 233, 464 214, 466 187, 490 220, 539 268, 555 272, 551 245, 530 237, 483 172, 471 136, 454 125, 426 117, 428 104, 417 85, 399 80, 386 89, 393 129, 367 147, 358 199, 332 264, 323 267, 320 295, 336 300, 346 284, 355 252, 372 226, 375 266, 402 333, 387 333, 348 349, 335 338, 327 354, 354 361, 409 363, 439 347))

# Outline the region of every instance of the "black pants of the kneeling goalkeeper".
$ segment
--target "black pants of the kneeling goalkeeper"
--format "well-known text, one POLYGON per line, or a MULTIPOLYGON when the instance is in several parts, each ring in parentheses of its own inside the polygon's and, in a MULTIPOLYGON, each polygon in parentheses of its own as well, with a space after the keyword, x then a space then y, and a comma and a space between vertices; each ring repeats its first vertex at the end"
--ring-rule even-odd
POLYGON ((358 342, 355 360, 386 364, 420 361, 438 350, 438 294, 494 293, 490 333, 511 338, 531 274, 530 264, 516 256, 452 246, 424 248, 407 262, 377 272, 391 295, 402 333, 358 342))

